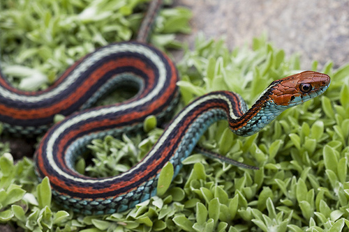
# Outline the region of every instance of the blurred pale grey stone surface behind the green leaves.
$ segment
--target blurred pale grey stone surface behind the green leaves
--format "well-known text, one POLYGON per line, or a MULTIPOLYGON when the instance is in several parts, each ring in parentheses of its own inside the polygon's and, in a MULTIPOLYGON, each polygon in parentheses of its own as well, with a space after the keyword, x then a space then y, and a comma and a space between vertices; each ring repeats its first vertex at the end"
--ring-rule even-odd
POLYGON ((191 8, 192 33, 181 41, 193 47, 195 35, 225 36, 230 49, 251 45, 253 37, 267 33, 269 41, 288 56, 298 53, 304 70, 313 60, 319 68, 334 68, 349 61, 348 0, 177 0, 176 6, 191 8))

